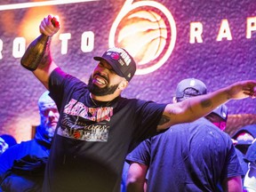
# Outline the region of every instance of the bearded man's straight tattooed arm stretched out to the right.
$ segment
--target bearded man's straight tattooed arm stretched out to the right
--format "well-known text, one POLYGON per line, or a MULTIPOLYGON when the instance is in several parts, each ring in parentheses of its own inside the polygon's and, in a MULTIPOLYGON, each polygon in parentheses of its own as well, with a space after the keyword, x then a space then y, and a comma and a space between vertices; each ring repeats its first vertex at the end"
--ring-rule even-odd
POLYGON ((255 80, 237 82, 215 92, 168 104, 157 130, 166 129, 173 124, 195 121, 228 100, 240 100, 248 97, 252 99, 256 97, 255 80))

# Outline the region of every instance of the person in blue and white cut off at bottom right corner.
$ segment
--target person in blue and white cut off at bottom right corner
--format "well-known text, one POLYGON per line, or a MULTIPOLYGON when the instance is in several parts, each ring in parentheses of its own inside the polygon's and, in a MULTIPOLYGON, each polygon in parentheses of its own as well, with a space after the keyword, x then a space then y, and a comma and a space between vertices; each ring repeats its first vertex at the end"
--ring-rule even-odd
MULTIPOLYGON (((254 127, 256 129, 256 126, 254 127)), ((256 139, 252 141, 252 145, 248 148, 244 161, 248 163, 248 172, 244 177, 244 189, 248 192, 256 191, 256 139)))

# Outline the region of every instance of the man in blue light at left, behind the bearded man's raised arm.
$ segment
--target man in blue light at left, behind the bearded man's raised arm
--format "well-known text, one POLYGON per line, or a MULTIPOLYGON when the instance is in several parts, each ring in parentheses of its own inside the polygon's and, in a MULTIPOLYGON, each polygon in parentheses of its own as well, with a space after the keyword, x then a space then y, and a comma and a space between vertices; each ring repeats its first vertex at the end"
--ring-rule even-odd
POLYGON ((35 138, 7 148, 0 156, 0 191, 42 191, 44 166, 60 115, 48 91, 40 96, 38 108, 35 138))

